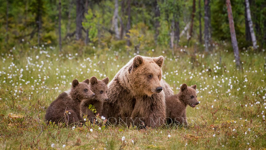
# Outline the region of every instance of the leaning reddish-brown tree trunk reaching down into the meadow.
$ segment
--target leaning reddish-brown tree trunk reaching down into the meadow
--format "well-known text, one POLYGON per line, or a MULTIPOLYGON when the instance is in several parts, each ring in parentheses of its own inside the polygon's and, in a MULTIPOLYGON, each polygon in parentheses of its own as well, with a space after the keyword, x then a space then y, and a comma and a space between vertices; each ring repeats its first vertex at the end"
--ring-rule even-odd
POLYGON ((238 68, 241 67, 240 63, 240 56, 238 51, 238 44, 236 40, 235 35, 235 25, 234 25, 234 18, 232 13, 232 7, 230 0, 226 0, 226 6, 227 6, 227 13, 228 13, 228 20, 229 20, 229 27, 230 27, 230 34, 231 34, 231 40, 232 40, 232 46, 234 49, 234 55, 235 55, 235 63, 238 68))

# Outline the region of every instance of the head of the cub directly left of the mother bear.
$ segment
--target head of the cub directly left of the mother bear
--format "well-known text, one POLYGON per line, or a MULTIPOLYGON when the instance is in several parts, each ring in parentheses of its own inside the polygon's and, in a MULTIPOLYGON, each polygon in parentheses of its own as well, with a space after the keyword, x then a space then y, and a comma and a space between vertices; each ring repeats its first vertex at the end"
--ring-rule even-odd
POLYGON ((95 93, 94 99, 101 101, 109 100, 107 97, 108 82, 108 77, 102 80, 98 80, 95 76, 90 78, 90 89, 95 93))

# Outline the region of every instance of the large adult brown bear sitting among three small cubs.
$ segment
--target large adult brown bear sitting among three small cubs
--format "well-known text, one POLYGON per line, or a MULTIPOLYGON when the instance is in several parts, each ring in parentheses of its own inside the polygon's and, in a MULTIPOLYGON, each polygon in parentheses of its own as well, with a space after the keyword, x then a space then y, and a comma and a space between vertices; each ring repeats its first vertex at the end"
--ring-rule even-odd
POLYGON ((164 57, 137 55, 108 84, 109 100, 103 103, 103 116, 110 122, 144 123, 158 127, 165 122, 165 96, 173 95, 163 80, 164 57), (118 120, 119 119, 119 120, 118 120))

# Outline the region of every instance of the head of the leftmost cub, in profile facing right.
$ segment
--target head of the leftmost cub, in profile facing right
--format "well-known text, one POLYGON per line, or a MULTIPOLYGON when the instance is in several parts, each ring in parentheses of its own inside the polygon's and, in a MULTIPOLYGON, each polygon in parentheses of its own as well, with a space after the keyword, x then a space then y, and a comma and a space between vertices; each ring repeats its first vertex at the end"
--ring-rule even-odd
POLYGON ((72 88, 70 91, 71 98, 81 101, 82 99, 93 98, 95 95, 89 87, 90 80, 86 79, 82 82, 78 82, 77 79, 72 81, 72 88))

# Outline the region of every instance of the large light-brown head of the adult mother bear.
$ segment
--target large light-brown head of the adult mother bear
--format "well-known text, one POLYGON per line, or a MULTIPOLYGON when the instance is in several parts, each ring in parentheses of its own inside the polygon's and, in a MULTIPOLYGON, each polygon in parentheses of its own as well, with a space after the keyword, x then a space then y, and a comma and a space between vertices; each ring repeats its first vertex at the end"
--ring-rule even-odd
POLYGON ((133 58, 132 65, 128 68, 128 80, 134 92, 151 96, 163 90, 161 86, 164 57, 155 58, 137 55, 133 58))

